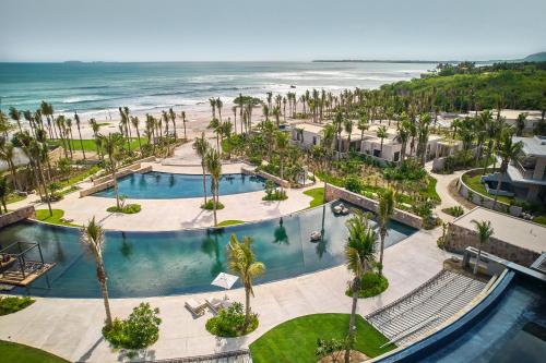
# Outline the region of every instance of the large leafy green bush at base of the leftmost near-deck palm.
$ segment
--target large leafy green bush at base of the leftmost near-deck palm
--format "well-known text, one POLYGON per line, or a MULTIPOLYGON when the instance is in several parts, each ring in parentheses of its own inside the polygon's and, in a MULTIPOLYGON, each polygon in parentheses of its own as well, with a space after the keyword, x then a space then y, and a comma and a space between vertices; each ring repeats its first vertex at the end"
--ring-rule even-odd
POLYGON ((116 349, 144 349, 159 339, 162 319, 157 314, 159 308, 141 303, 127 319, 116 318, 110 329, 104 327, 103 336, 116 349))

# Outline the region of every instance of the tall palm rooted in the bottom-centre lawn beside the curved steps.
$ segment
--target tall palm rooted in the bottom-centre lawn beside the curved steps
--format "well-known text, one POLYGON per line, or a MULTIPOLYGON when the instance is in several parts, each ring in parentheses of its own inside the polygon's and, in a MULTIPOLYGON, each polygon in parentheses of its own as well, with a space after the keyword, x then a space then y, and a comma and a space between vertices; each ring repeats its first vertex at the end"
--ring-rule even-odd
MULTIPOLYGON (((347 220, 348 237, 345 244, 345 259, 347 268, 353 273, 354 278, 351 283, 353 290, 353 306, 351 308, 351 319, 348 324, 349 340, 355 335, 356 305, 358 304, 358 291, 364 274, 375 259, 377 233, 368 223, 367 216, 359 209, 347 220)), ((345 363, 349 362, 351 347, 345 351, 345 363)))

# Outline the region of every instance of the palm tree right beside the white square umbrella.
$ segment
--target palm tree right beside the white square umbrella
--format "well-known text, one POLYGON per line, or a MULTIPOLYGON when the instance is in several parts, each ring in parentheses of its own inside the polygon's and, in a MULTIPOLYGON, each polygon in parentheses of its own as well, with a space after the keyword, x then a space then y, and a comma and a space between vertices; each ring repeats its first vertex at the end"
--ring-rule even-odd
POLYGON ((245 286, 245 323, 242 325, 242 334, 247 331, 250 324, 250 295, 254 295, 252 279, 265 273, 265 265, 256 261, 251 243, 252 240, 249 237, 244 237, 242 242, 240 242, 234 233, 232 234, 227 250, 229 269, 239 275, 245 286))

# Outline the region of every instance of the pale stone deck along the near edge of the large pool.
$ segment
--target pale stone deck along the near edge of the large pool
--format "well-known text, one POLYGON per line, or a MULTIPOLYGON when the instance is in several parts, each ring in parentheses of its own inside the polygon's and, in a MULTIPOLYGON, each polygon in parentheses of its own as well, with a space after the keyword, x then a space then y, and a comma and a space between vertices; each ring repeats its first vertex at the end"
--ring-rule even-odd
MULTIPOLYGON (((449 256, 436 240, 440 229, 418 231, 385 250, 384 274, 389 289, 360 300, 358 313, 372 311, 401 298, 435 276, 449 256)), ((224 292, 150 299, 110 300, 115 316, 127 316, 140 302, 159 307, 163 324, 159 340, 135 360, 210 354, 247 348, 272 327, 297 316, 316 313, 349 313, 352 299, 344 294, 349 274, 344 266, 270 282, 254 288, 252 308, 260 315, 259 328, 242 338, 215 338, 205 330, 210 313, 192 318, 183 307, 188 297, 221 298, 224 292)), ((145 281, 143 281, 144 283, 145 281)), ((228 291, 232 300, 244 301, 244 290, 228 291)), ((110 350, 100 335, 104 306, 100 299, 37 299, 29 307, 0 317, 0 339, 44 349, 71 361, 116 362, 120 353, 110 350)))

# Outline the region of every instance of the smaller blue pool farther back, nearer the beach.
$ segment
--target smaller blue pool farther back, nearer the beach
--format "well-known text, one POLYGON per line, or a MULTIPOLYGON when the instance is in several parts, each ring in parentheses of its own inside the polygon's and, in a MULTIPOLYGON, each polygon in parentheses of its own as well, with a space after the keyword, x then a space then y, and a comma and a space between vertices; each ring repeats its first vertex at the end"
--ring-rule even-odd
MULTIPOLYGON (((211 195, 211 177, 205 177, 206 194, 211 195)), ((265 180, 257 176, 224 174, 219 180, 219 194, 238 194, 262 191, 265 180)), ((203 196, 203 176, 175 174, 150 171, 132 173, 118 179, 119 194, 133 199, 170 199, 203 196)), ((95 196, 114 197, 114 187, 94 193, 95 196)))

